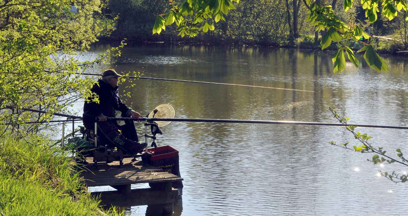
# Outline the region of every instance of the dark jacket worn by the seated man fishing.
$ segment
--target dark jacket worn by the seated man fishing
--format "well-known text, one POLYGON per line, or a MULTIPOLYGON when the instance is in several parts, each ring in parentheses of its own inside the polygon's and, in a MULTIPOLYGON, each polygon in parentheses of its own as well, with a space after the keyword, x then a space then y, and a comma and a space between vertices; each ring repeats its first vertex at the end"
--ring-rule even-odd
MULTIPOLYGON (((95 122, 95 117, 101 114, 107 117, 115 117, 115 110, 122 112, 122 116, 131 110, 124 104, 119 97, 118 87, 113 88, 111 84, 98 80, 99 86, 94 84, 91 91, 99 95, 99 104, 95 102, 86 102, 84 104, 84 126, 92 126, 95 122)), ((88 98, 91 100, 92 98, 88 98)))

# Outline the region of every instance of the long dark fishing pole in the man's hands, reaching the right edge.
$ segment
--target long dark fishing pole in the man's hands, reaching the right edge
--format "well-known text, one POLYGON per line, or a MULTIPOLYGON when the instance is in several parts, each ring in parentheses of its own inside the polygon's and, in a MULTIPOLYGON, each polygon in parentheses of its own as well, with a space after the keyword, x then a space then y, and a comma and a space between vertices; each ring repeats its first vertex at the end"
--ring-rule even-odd
POLYGON ((366 125, 366 124, 341 124, 321 123, 305 121, 262 121, 262 120, 238 120, 238 119, 183 119, 183 118, 126 118, 108 117, 107 120, 134 120, 134 121, 188 121, 188 122, 217 122, 217 123, 257 123, 257 124, 286 124, 286 125, 314 125, 314 126, 358 126, 362 128, 393 128, 408 129, 406 126, 366 125))

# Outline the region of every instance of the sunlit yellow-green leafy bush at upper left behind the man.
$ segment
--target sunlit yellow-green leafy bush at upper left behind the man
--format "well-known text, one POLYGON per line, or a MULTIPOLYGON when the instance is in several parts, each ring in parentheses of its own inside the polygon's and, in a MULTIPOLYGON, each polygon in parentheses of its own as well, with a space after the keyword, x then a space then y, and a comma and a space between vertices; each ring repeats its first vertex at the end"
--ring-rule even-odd
POLYGON ((48 120, 73 101, 91 96, 94 81, 78 73, 115 57, 117 48, 95 61, 80 61, 82 51, 113 28, 104 19, 99 0, 40 0, 25 4, 6 1, 0 6, 0 122, 48 120), (78 11, 71 11, 71 5, 78 11), (45 115, 4 112, 5 106, 38 108, 45 115))

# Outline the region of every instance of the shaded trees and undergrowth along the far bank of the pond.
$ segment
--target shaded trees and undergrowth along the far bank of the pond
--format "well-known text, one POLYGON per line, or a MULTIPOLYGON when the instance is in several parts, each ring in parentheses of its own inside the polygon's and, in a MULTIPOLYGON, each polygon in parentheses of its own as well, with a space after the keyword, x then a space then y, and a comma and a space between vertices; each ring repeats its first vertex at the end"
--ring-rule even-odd
MULTIPOLYGON (((235 4, 236 9, 224 16, 226 22, 212 23, 214 31, 199 34, 196 37, 177 37, 175 26, 167 26, 160 35, 152 35, 152 27, 157 15, 166 13, 169 0, 106 0, 102 12, 109 18, 117 18, 115 31, 107 40, 127 38, 137 42, 208 42, 227 44, 248 44, 268 46, 292 46, 299 40, 311 40, 318 44, 325 33, 315 33, 315 26, 307 22, 308 9, 302 0, 245 0, 235 4), (320 35, 320 36, 319 36, 320 35), (300 38, 300 39, 299 39, 300 38)), ((184 1, 175 2, 182 4, 184 1)), ((404 46, 407 42, 406 14, 398 14, 389 21, 379 16, 377 22, 370 24, 360 1, 354 1, 354 7, 344 11, 344 1, 316 0, 322 5, 331 5, 341 20, 368 26, 374 35, 400 35, 404 46)), ((380 6, 381 7, 381 6, 380 6)))

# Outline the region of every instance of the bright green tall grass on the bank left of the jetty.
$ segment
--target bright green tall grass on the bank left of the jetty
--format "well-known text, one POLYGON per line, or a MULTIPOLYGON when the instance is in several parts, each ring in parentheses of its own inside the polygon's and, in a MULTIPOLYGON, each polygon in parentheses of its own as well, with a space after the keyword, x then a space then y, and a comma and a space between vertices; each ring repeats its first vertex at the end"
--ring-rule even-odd
POLYGON ((43 143, 35 134, 0 137, 0 215, 103 215, 67 153, 43 143))

